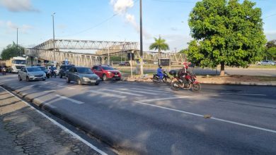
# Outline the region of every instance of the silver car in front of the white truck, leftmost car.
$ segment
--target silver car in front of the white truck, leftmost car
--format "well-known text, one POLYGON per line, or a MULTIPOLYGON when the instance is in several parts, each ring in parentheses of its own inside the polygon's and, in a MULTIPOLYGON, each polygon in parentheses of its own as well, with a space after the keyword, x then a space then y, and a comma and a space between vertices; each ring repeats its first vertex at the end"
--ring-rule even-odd
POLYGON ((23 67, 18 72, 18 80, 46 80, 46 74, 38 67, 23 67))

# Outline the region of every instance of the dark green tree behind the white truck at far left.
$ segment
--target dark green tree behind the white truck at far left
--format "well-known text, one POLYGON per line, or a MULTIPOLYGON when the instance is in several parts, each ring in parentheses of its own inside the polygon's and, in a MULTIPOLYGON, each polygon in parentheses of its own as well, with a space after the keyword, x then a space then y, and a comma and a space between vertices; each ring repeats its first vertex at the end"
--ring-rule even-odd
POLYGON ((16 44, 13 42, 13 44, 9 44, 6 46, 5 49, 3 49, 1 53, 1 58, 4 60, 8 60, 14 56, 22 56, 24 54, 24 47, 23 46, 16 46, 16 44))

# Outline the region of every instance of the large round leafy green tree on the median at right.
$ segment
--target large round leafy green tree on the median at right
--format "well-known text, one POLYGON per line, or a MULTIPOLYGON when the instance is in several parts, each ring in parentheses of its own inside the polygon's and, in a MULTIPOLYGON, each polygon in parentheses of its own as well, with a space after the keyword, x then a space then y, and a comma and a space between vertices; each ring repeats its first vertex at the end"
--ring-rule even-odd
MULTIPOLYGON (((198 1, 188 19, 195 39, 189 48, 195 48, 195 58, 202 67, 248 67, 259 61, 265 51, 262 11, 255 3, 244 0, 198 1)), ((191 51, 189 49, 189 51, 191 51)), ((189 52, 190 54, 190 52, 189 52)))

